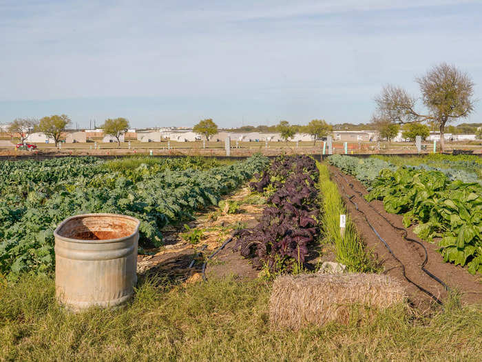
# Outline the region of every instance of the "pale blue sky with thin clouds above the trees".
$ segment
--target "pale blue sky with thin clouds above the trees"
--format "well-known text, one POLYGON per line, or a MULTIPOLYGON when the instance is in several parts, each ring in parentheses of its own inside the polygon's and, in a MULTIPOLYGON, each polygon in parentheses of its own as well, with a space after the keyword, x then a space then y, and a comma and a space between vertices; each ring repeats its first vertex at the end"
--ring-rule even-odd
POLYGON ((0 123, 367 122, 442 61, 482 97, 482 1, 0 0, 0 34, 0 123))

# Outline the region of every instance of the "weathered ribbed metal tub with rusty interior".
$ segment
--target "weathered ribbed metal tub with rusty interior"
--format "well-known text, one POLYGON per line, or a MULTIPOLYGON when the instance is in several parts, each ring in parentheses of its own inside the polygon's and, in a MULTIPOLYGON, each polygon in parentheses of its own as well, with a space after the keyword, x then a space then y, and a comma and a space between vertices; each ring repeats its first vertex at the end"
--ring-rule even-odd
POLYGON ((113 307, 137 282, 140 221, 118 214, 83 214, 54 231, 56 297, 73 311, 113 307))

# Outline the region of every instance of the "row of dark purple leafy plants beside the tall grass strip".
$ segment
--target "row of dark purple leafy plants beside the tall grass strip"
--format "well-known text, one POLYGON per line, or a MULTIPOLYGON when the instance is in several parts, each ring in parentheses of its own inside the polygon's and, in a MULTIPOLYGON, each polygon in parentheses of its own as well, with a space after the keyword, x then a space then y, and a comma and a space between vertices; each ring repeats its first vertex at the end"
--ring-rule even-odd
POLYGON ((235 249, 251 257, 255 268, 277 274, 303 267, 317 233, 318 176, 315 161, 298 155, 279 157, 251 183, 268 196, 269 206, 258 225, 238 232, 235 249))

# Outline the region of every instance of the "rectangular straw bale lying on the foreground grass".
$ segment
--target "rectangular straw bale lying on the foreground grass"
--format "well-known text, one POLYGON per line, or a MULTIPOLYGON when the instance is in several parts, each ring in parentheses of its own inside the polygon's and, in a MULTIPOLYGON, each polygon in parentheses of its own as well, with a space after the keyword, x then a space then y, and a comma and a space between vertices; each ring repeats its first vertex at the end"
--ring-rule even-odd
POLYGON ((328 321, 348 323, 402 303, 405 291, 395 279, 380 274, 298 274, 273 283, 269 318, 273 328, 297 330, 328 321))

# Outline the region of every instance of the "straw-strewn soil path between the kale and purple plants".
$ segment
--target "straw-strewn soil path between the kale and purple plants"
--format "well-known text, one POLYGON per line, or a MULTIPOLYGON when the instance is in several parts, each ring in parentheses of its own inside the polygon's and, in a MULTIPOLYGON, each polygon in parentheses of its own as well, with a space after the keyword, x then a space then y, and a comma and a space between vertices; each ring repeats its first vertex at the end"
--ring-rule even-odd
MULTIPOLYGON (((198 214, 196 220, 188 223, 191 229, 203 230, 204 237, 196 245, 182 239, 182 233, 185 232, 183 225, 169 225, 163 229, 165 245, 160 249, 146 250, 145 255, 138 255, 138 273, 141 276, 167 276, 169 279, 187 283, 199 281, 202 263, 229 238, 235 226, 252 228, 258 223, 256 218, 262 213, 264 205, 245 203, 244 199, 249 194, 249 188, 244 187, 227 197, 228 200, 240 202, 240 212, 237 214, 222 214, 219 208, 209 208, 206 212, 198 214), (220 216, 212 217, 215 212, 220 216), (195 262, 189 268, 193 260, 195 262)), ((233 252, 233 246, 234 241, 231 241, 207 262, 207 278, 234 276, 240 279, 254 279, 258 276, 259 271, 251 266, 248 259, 241 257, 238 252, 233 252)))

